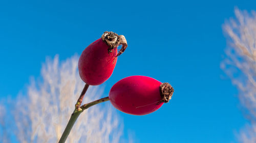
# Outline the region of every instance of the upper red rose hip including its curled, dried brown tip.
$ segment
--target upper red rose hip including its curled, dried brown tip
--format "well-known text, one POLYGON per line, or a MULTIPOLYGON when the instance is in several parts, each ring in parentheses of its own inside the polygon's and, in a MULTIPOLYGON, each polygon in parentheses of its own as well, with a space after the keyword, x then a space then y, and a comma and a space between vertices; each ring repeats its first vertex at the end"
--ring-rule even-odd
POLYGON ((104 32, 100 39, 94 41, 83 50, 78 70, 81 79, 90 85, 99 85, 105 82, 116 66, 117 56, 127 47, 124 36, 113 32, 104 32), (117 47, 122 45, 117 53, 117 47))

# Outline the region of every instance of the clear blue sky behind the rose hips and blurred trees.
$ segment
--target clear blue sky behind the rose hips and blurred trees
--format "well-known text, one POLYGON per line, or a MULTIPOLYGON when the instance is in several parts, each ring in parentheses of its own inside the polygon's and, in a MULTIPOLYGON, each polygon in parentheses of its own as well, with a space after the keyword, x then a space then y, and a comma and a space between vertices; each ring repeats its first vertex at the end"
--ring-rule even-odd
POLYGON ((237 90, 223 71, 222 24, 256 1, 0 1, 0 98, 15 97, 40 75, 46 56, 65 60, 104 31, 125 35, 105 94, 119 79, 151 76, 175 88, 146 116, 119 112, 124 136, 138 142, 236 142, 244 126, 237 90), (163 125, 164 123, 164 125, 163 125), (167 124, 166 124, 167 123, 167 124))

